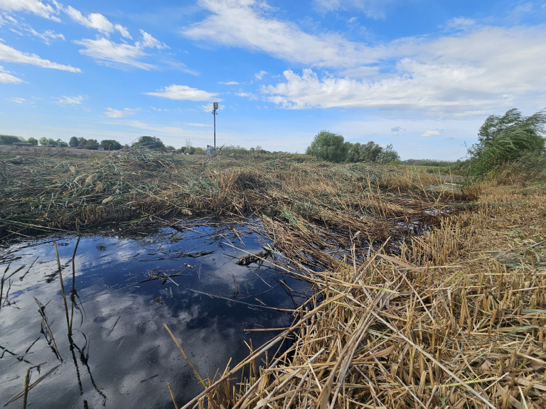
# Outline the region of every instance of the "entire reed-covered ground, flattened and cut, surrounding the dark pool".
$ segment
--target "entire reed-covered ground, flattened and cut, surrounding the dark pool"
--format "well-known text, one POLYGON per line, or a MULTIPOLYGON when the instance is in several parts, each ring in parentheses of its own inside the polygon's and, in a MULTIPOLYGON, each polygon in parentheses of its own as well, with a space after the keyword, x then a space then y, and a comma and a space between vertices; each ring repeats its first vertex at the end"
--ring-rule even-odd
POLYGON ((186 407, 543 408, 543 181, 459 182, 288 154, 9 150, 0 234, 259 221, 316 294, 186 407))

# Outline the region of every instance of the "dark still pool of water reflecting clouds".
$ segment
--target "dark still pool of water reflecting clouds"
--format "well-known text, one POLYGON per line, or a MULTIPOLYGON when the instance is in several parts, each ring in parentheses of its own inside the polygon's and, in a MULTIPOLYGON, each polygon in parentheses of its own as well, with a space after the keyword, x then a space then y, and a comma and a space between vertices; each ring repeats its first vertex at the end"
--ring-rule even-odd
MULTIPOLYGON (((291 308, 306 298, 299 291, 309 294, 306 285, 269 263, 237 265, 245 251, 262 251, 259 236, 240 226, 83 236, 75 256, 82 312, 74 313, 70 349, 53 241, 70 313, 77 237, 18 244, 0 258, 0 275, 23 266, 4 283, 1 300, 1 405, 23 391, 26 371, 37 365, 40 372, 31 371, 31 383, 53 371, 29 391, 28 408, 172 408, 166 382, 181 405, 202 387, 164 323, 200 376, 213 377, 230 357, 237 362, 247 355, 245 340, 252 338, 257 347, 277 334, 245 329, 286 327, 292 321, 261 306, 291 308), (45 306, 62 361, 48 344, 35 298, 45 306)), ((22 405, 19 398, 7 407, 22 405)))

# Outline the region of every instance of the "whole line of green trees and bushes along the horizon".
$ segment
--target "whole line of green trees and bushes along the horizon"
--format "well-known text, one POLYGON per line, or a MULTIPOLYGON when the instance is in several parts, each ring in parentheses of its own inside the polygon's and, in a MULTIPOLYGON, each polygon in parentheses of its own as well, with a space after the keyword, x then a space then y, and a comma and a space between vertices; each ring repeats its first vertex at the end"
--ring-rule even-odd
MULTIPOLYGON (((510 109, 504 115, 488 116, 478 131, 478 143, 475 143, 468 150, 466 160, 457 161, 468 175, 481 177, 494 172, 506 163, 520 161, 530 166, 542 166, 546 163, 546 109, 538 111, 531 116, 524 116, 518 109, 510 109)), ((105 151, 116 151, 123 148, 121 143, 114 139, 77 138, 73 136, 68 143, 53 138, 28 138, 19 136, 1 135, 1 145, 13 145, 14 143, 30 143, 41 146, 60 146, 72 148, 98 149, 105 151)), ((173 146, 165 146, 160 138, 154 136, 141 136, 132 143, 134 147, 143 147, 157 151, 176 151, 179 153, 205 153, 203 148, 191 146, 186 140, 186 146, 176 150, 173 146)), ((219 151, 238 154, 268 153, 261 146, 247 150, 240 146, 223 146, 219 151)), ((321 160, 328 160, 335 163, 398 163, 400 155, 392 145, 385 148, 374 141, 367 143, 346 142, 343 136, 330 131, 320 131, 316 134, 311 145, 306 149, 306 154, 316 156, 321 160)), ((453 165, 441 160, 405 160, 407 164, 413 165, 453 165)))

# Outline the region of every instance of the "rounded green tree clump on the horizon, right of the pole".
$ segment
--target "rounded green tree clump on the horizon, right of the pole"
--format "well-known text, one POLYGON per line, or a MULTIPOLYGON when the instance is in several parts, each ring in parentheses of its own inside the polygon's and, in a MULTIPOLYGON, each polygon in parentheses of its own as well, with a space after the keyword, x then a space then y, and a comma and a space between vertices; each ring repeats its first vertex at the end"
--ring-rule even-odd
POLYGON ((330 131, 317 133, 305 153, 335 163, 372 162, 385 164, 400 161, 400 155, 392 148, 392 144, 383 148, 374 141, 350 143, 346 142, 342 135, 330 131))

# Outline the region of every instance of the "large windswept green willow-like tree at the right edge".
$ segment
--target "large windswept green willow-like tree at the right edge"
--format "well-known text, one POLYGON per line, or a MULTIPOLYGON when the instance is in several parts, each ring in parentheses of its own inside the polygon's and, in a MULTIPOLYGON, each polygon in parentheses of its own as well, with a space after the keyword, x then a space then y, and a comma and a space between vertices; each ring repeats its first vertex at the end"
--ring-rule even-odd
POLYGON ((498 165, 529 155, 545 153, 546 111, 523 116, 510 109, 491 115, 480 127, 478 143, 469 148, 469 170, 483 175, 498 165))

